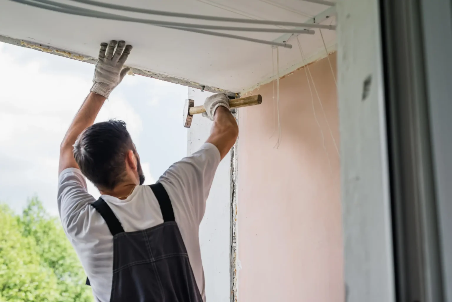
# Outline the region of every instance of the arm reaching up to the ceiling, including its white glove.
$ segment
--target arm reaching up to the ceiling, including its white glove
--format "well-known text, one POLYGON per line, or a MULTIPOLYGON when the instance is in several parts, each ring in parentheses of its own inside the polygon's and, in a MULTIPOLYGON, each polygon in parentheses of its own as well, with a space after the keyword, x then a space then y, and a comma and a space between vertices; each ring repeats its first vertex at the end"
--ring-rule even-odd
POLYGON ((75 140, 83 130, 93 125, 110 92, 118 86, 130 70, 128 67, 122 67, 131 49, 132 46, 126 46, 124 41, 119 41, 119 43, 110 41, 109 44, 100 44, 99 59, 94 68, 94 84, 61 142, 58 174, 66 168, 79 168, 74 159, 73 145, 75 140), (118 47, 116 47, 117 44, 118 47))

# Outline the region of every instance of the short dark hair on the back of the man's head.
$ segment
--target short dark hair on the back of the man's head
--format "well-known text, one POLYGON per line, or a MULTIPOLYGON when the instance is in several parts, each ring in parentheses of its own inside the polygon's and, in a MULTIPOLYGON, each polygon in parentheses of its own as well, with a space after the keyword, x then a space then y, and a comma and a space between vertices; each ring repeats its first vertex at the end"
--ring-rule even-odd
POLYGON ((74 144, 74 158, 94 185, 112 190, 124 177, 129 150, 135 152, 126 123, 109 120, 90 126, 79 135, 74 144))

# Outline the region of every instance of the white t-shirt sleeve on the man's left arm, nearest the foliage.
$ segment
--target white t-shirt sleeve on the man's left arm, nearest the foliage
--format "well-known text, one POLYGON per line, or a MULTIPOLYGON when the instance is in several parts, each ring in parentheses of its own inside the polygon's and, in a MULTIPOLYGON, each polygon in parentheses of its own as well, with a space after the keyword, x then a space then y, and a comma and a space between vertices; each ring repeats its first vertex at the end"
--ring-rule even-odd
POLYGON ((77 168, 67 168, 58 177, 58 211, 69 237, 85 234, 89 205, 95 201, 87 191, 85 176, 77 168))

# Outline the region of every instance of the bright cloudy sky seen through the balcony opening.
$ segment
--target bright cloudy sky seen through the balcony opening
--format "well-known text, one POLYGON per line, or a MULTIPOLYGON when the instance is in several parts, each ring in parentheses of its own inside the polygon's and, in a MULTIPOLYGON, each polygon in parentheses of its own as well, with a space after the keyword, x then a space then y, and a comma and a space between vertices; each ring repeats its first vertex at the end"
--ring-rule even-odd
MULTIPOLYGON (((19 212, 37 196, 57 215, 59 146, 89 93, 94 65, 0 42, 0 71, 0 203, 19 212)), ((186 155, 187 95, 186 86, 127 75, 99 112, 96 122, 127 123, 145 184, 186 155)), ((99 197, 89 181, 88 192, 99 197)))

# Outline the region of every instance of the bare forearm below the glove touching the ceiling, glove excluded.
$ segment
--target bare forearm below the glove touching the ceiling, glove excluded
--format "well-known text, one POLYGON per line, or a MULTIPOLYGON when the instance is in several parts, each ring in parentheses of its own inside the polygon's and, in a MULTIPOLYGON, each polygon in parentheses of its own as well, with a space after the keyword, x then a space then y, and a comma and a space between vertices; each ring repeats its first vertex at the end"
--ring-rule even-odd
POLYGON ((94 92, 90 92, 81 105, 79 111, 72 120, 69 129, 61 143, 61 148, 71 147, 83 130, 94 124, 100 108, 104 105, 105 97, 94 92))

